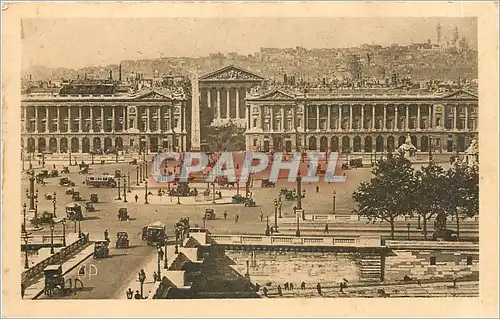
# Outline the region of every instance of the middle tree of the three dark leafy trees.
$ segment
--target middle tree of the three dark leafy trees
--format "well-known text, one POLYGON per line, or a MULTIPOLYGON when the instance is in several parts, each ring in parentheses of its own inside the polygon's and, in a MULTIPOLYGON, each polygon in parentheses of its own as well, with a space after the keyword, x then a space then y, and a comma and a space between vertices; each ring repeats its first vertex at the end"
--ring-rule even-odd
POLYGON ((435 214, 444 212, 446 180, 444 169, 430 162, 415 172, 414 213, 422 218, 424 239, 427 240, 427 221, 435 214))

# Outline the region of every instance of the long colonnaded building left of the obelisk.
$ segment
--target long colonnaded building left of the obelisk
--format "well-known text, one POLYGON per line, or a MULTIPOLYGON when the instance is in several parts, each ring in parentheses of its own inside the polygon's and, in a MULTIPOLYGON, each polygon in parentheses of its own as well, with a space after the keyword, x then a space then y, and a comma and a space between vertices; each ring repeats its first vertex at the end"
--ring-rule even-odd
POLYGON ((21 145, 25 152, 89 153, 189 146, 190 99, 160 89, 121 91, 112 81, 72 82, 59 92, 25 92, 21 145))

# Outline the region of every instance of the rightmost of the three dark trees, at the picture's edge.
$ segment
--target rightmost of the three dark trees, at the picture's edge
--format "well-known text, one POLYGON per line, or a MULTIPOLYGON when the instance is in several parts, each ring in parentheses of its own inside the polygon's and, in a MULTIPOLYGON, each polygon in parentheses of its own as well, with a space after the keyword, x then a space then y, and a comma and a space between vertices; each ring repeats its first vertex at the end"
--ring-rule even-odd
POLYGON ((457 237, 460 237, 460 213, 473 217, 479 213, 479 169, 455 163, 446 173, 445 209, 456 220, 457 237))

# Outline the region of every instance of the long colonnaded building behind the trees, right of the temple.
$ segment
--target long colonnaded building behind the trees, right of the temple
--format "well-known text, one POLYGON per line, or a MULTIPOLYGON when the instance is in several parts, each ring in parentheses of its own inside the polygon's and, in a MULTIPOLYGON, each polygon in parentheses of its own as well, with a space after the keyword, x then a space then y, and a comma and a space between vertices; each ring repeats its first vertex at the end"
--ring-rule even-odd
POLYGON ((247 151, 395 151, 411 137, 419 152, 464 152, 478 128, 477 95, 459 90, 292 94, 246 100, 247 151))

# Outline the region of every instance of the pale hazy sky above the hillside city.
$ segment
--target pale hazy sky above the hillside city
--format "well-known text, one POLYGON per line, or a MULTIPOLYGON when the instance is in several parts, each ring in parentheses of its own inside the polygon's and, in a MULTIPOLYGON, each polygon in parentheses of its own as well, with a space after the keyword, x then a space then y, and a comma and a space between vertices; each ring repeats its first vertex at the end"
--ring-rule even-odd
POLYGON ((477 46, 474 18, 92 18, 23 19, 23 69, 81 68, 121 60, 252 54, 261 47, 354 47, 436 41, 455 26, 477 46))

